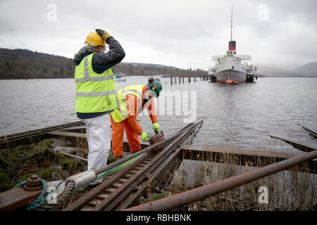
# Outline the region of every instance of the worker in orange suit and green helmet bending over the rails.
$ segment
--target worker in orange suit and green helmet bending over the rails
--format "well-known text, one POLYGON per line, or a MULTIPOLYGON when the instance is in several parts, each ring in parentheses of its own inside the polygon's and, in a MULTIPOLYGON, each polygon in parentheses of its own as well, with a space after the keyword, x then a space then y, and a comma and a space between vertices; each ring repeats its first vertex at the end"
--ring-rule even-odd
POLYGON ((139 136, 142 141, 149 141, 149 134, 142 130, 137 122, 137 115, 147 108, 153 129, 159 134, 161 129, 157 123, 154 97, 159 97, 162 84, 159 79, 149 78, 147 85, 133 85, 120 89, 116 95, 116 107, 111 113, 112 151, 116 160, 123 158, 123 131, 127 135, 132 153, 141 149, 139 136))

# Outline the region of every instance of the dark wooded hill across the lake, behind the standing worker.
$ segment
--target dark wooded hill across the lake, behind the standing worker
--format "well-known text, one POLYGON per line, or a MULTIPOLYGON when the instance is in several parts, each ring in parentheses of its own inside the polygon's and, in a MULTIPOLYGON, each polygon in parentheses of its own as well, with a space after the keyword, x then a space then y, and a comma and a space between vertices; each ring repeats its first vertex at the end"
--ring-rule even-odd
MULTIPOLYGON (((204 70, 182 70, 172 66, 151 63, 119 63, 114 74, 128 76, 203 76, 204 70)), ((63 56, 38 53, 26 49, 0 48, 0 79, 73 78, 75 63, 63 56)))

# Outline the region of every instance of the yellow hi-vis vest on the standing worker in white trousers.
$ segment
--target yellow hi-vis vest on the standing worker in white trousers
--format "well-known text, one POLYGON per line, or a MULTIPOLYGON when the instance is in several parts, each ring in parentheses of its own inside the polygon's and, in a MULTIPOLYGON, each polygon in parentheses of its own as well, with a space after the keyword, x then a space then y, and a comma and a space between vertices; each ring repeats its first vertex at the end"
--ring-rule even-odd
POLYGON ((76 112, 101 113, 116 106, 116 86, 111 69, 101 74, 92 70, 92 56, 82 59, 75 68, 76 112))

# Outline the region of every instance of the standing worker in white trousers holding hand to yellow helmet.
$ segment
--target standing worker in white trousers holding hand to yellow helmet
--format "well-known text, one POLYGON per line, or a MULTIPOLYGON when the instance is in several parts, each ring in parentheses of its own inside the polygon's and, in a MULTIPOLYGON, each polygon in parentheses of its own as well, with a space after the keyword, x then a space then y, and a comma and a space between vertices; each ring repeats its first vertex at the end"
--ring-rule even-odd
POLYGON ((90 33, 85 44, 75 54, 76 112, 86 124, 88 169, 94 170, 107 164, 111 148, 110 113, 116 106, 111 67, 123 60, 125 51, 116 39, 101 29, 90 33), (109 45, 107 52, 106 44, 109 45))

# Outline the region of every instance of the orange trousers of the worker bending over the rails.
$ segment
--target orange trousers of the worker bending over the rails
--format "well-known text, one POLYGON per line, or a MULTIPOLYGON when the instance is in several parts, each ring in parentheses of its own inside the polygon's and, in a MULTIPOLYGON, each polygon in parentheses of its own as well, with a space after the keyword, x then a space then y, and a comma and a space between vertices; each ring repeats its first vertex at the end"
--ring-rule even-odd
POLYGON ((139 135, 131 127, 128 120, 123 120, 117 124, 111 118, 111 127, 112 127, 112 151, 113 154, 118 157, 123 155, 123 131, 127 135, 129 147, 131 153, 135 153, 141 149, 139 144, 139 135))

